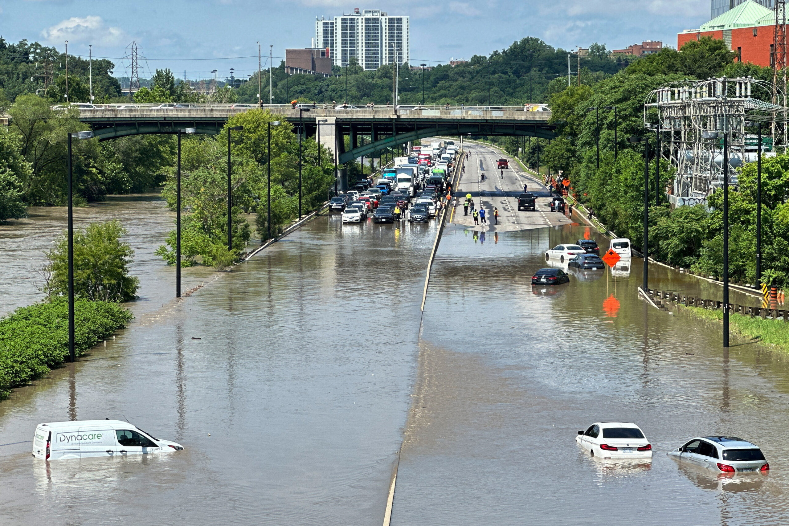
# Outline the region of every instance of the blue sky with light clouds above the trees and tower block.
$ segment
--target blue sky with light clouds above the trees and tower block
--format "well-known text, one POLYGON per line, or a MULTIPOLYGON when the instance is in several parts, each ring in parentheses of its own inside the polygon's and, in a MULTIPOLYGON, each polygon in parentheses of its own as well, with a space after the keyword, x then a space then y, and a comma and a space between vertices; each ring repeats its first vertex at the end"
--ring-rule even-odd
MULTIPOLYGON (((489 54, 524 36, 563 49, 593 42, 615 49, 644 39, 675 47, 676 33, 699 27, 710 12, 709 0, 0 0, 0 35, 59 50, 69 40, 69 54, 87 55, 92 44, 95 56, 108 58, 123 57, 136 40, 148 58, 140 76, 169 67, 190 79, 218 69, 222 78, 232 67, 244 78, 257 69, 258 41, 264 54, 273 45, 282 57, 286 47, 310 45, 316 16, 354 7, 409 15, 412 63, 489 54)), ((114 62, 122 76, 128 61, 114 62)))

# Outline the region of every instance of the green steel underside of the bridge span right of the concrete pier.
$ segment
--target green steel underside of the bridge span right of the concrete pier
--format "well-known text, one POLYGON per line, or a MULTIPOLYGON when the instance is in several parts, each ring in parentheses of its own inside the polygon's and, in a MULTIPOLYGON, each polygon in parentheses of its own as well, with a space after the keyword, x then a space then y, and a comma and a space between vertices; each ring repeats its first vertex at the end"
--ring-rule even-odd
POLYGON ((458 120, 451 122, 414 121, 393 122, 347 122, 337 121, 337 133, 350 136, 350 150, 345 151, 345 140, 338 140, 338 162, 352 161, 387 147, 396 147, 423 137, 462 136, 462 135, 499 135, 529 136, 540 139, 554 139, 555 125, 540 122, 530 124, 519 121, 474 121, 458 120), (359 144, 360 136, 369 136, 371 142, 359 144))

